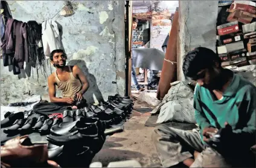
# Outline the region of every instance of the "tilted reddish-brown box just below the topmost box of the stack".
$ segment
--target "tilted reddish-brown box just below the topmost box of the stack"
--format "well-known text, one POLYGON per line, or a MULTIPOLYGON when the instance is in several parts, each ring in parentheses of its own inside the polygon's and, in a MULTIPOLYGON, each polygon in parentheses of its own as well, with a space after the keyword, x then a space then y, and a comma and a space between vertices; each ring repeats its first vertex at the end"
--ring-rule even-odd
POLYGON ((243 11, 238 11, 237 10, 237 11, 234 11, 234 12, 230 13, 226 20, 228 20, 228 22, 238 21, 238 22, 241 22, 241 23, 248 24, 248 23, 252 22, 253 18, 254 17, 252 17, 252 16, 246 15, 243 11))

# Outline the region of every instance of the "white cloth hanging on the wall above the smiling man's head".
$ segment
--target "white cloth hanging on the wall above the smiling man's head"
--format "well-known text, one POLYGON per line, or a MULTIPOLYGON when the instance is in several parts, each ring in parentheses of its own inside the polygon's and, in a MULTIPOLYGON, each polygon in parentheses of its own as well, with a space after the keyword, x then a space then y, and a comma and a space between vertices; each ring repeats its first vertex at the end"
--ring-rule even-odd
POLYGON ((50 57, 54 49, 61 49, 59 28, 55 21, 46 20, 42 23, 42 42, 46 58, 50 57))

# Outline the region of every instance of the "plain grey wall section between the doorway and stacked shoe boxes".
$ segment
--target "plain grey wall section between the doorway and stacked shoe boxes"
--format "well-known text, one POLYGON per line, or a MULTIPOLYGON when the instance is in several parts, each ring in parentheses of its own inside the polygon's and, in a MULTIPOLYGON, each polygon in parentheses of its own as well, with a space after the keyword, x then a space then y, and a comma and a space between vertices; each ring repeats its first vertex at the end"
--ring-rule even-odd
POLYGON ((185 80, 182 61, 188 51, 203 46, 216 52, 217 14, 218 1, 179 1, 178 80, 185 80))

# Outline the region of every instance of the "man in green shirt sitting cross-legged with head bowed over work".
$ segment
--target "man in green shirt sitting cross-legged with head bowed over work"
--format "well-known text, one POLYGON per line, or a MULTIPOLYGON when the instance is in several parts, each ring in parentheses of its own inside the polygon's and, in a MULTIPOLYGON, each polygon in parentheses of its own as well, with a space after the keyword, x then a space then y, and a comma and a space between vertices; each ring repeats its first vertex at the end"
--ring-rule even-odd
POLYGON ((162 166, 255 167, 250 151, 255 145, 255 86, 223 69, 218 55, 207 48, 188 52, 183 71, 197 81, 194 108, 200 134, 157 126, 152 138, 162 166), (212 143, 218 130, 219 142, 212 143))

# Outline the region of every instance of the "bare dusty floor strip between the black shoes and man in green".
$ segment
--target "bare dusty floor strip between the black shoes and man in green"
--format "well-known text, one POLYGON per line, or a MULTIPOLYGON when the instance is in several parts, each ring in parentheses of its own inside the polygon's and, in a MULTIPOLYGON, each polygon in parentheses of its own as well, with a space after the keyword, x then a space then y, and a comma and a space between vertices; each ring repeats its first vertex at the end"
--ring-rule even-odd
MULTIPOLYGON (((135 101, 136 107, 149 107, 144 102, 135 101)), ((153 127, 144 126, 150 113, 139 113, 133 110, 124 123, 124 131, 107 137, 103 148, 95 155, 92 162, 100 161, 107 166, 111 161, 135 159, 142 167, 160 167, 160 161, 152 143, 153 127)))

